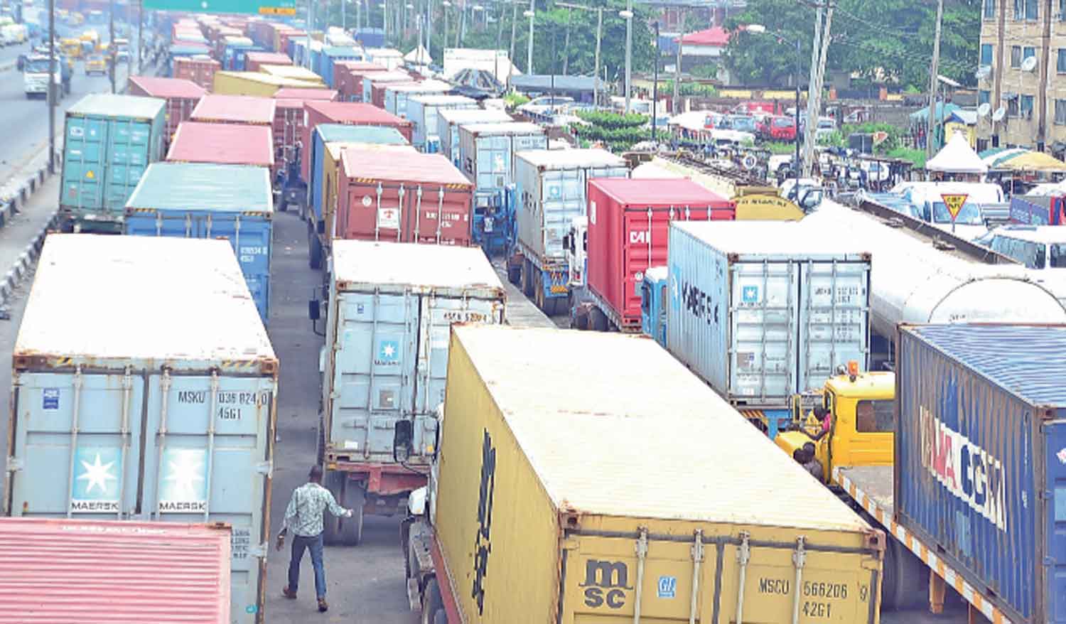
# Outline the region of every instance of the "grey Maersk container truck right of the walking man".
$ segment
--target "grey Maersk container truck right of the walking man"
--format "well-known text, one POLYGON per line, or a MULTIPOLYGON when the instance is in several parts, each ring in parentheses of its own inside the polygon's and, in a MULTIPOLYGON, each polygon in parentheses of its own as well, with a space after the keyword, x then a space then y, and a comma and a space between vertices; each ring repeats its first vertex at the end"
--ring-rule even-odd
MULTIPOLYGON (((338 240, 333 252, 318 452, 323 484, 355 511, 326 516, 324 538, 354 545, 365 512, 403 513, 407 494, 425 484, 449 326, 503 322, 505 295, 475 249, 338 240)), ((318 301, 309 311, 317 320, 318 301)))

